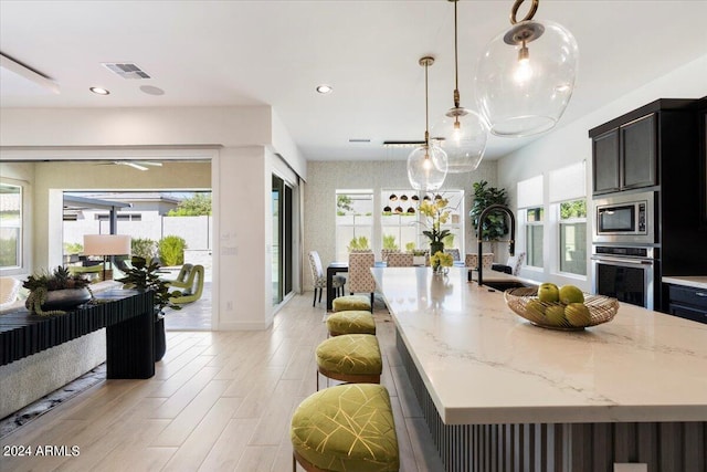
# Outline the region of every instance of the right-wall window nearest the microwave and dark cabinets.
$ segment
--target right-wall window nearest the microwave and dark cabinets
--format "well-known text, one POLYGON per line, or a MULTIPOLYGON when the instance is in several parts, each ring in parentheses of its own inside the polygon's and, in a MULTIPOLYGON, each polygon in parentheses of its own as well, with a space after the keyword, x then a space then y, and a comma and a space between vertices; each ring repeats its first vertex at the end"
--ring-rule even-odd
POLYGON ((587 275, 587 199, 559 206, 560 272, 587 275))

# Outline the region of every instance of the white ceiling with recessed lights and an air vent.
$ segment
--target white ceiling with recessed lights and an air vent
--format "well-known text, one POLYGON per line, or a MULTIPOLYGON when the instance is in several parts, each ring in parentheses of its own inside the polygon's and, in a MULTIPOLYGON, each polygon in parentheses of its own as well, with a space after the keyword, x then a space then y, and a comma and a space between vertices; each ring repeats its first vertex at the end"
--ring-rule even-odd
MULTIPOLYGON (((476 108, 477 57, 510 25, 511 6, 457 4, 463 106, 476 108)), ((421 56, 436 60, 429 71, 430 125, 453 106, 453 18, 446 0, 0 0, 0 52, 60 92, 2 67, 0 105, 271 105, 306 159, 402 159, 410 149, 382 141, 423 138, 421 56), (106 62, 135 63, 150 78, 119 77, 106 62), (334 92, 316 93, 323 83, 334 92), (145 85, 165 93, 145 93, 145 85), (91 86, 110 95, 95 95, 91 86)), ((535 19, 564 25, 580 50, 577 87, 558 126, 705 55, 705 18, 704 0, 542 0, 535 19)), ((532 139, 490 137, 486 158, 532 139)))

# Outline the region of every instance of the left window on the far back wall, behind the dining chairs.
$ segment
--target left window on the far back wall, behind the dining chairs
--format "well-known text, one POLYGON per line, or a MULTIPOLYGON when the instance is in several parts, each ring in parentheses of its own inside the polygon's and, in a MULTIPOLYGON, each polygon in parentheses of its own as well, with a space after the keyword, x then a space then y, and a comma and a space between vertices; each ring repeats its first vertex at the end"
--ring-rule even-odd
POLYGON ((373 191, 336 191, 336 260, 348 261, 350 249, 372 249, 373 191))

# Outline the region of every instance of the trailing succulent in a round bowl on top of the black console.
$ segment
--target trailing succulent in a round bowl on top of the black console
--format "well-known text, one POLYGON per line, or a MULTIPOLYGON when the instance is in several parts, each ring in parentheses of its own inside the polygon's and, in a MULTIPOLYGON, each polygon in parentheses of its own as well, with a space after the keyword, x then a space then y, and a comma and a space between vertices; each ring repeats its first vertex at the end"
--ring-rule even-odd
POLYGON ((22 286, 30 291, 24 306, 42 316, 63 315, 64 310, 89 302, 93 294, 87 279, 72 274, 62 265, 52 272, 39 272, 30 275, 22 286))

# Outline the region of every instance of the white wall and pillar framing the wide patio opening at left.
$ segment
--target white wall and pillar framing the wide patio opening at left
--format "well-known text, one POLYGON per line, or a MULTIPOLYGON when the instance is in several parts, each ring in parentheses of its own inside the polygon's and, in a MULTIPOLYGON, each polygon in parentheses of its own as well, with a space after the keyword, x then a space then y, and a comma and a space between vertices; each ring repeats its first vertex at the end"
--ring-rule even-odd
MULTIPOLYGON (((264 269, 270 266, 265 221, 271 209, 265 201, 270 202, 272 174, 266 149, 282 155, 306 177, 303 157, 270 107, 0 108, 0 126, 2 159, 95 159, 112 154, 169 158, 170 151, 181 159, 189 153, 211 159, 212 289, 219 308, 212 326, 270 326, 275 308, 266 301, 271 281, 264 269), (275 148, 275 138, 284 149, 275 148)), ((89 179, 88 174, 83 177, 89 179)), ((43 204, 49 206, 48 200, 43 204)), ((38 223, 38 233, 49 234, 48 222, 38 223)), ((49 266, 51 247, 46 241, 34 251, 35 266, 49 266)))

